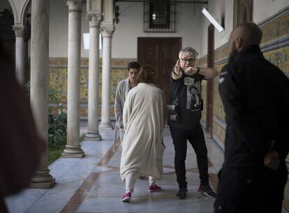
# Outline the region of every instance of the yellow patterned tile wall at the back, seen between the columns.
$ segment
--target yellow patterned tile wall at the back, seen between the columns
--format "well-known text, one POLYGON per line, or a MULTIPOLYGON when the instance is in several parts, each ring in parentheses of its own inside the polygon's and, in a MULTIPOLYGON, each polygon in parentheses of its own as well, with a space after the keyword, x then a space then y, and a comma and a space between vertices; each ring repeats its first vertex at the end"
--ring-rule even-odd
MULTIPOLYGON (((127 64, 136 59, 112 59, 111 66, 111 116, 114 116, 114 96, 117 90, 117 84, 120 80, 127 78, 127 64)), ((101 115, 101 67, 99 73, 98 87, 98 115, 101 115)), ((80 116, 87 117, 88 103, 88 59, 81 60, 80 70, 80 116)), ((67 59, 66 58, 51 58, 50 59, 50 89, 57 90, 60 102, 66 108, 67 103, 67 59)), ((52 103, 52 108, 58 103, 52 103)))

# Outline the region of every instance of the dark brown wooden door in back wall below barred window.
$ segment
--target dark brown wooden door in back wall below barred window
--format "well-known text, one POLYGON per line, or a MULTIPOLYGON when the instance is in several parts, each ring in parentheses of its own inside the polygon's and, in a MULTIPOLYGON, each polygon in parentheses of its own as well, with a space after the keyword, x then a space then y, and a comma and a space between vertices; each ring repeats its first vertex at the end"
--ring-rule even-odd
POLYGON ((155 84, 170 101, 170 73, 179 59, 181 38, 138 38, 138 62, 154 68, 155 84))

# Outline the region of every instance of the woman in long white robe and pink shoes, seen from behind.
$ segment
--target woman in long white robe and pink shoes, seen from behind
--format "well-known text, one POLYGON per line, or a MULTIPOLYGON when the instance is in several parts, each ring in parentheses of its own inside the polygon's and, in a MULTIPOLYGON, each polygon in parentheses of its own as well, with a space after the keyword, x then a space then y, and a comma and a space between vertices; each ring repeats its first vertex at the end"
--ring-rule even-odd
POLYGON ((140 68, 139 84, 128 92, 124 103, 121 179, 126 182, 122 201, 131 200, 139 175, 149 176, 149 192, 161 190, 156 179, 163 175, 163 128, 167 119, 165 96, 153 82, 154 70, 140 68))

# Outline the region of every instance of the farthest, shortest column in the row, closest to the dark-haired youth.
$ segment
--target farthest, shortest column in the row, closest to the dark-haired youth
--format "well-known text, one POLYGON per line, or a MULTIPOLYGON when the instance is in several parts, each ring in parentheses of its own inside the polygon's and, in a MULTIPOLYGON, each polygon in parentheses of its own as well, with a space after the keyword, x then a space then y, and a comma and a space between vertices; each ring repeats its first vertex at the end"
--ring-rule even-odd
POLYGON ((112 34, 114 26, 112 24, 103 24, 101 34, 103 35, 103 79, 101 93, 101 128, 112 128, 110 122, 110 78, 111 78, 111 52, 112 52, 112 34))

